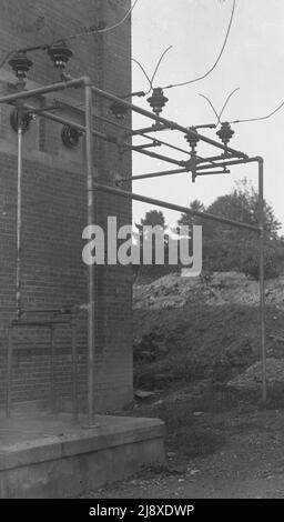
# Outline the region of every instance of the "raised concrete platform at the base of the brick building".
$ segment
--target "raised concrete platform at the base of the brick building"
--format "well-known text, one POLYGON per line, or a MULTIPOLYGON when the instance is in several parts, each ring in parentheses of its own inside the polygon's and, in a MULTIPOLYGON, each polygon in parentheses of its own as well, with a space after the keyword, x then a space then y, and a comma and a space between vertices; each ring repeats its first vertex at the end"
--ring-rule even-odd
POLYGON ((0 499, 70 498, 165 462, 158 419, 0 414, 0 499))

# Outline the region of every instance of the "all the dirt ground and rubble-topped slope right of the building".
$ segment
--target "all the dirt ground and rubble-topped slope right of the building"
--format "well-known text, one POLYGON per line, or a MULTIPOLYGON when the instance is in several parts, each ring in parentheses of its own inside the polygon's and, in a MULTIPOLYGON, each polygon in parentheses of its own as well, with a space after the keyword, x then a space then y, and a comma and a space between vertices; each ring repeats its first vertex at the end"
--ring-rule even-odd
POLYGON ((164 420, 168 465, 87 495, 284 498, 283 277, 266 282, 266 303, 264 404, 257 281, 169 274, 134 287, 128 414, 164 420))

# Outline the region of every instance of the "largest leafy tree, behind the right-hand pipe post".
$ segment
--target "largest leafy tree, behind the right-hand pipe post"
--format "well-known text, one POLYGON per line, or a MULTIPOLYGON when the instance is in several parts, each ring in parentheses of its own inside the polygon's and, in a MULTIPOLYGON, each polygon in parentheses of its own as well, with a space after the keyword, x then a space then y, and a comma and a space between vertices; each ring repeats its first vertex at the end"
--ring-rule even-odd
MULTIPOLYGON (((193 202, 191 208, 192 204, 193 202)), ((194 207, 206 210, 211 214, 258 225, 258 194, 248 185, 246 179, 239 182, 230 194, 219 197, 207 209, 200 202, 197 207, 194 202, 194 207)), ((179 224, 185 224, 185 222, 189 224, 192 222, 192 218, 182 214, 179 224)), ((243 271, 254 278, 258 277, 258 238, 255 232, 210 220, 201 219, 201 222, 203 224, 203 268, 205 270, 243 271)), ((276 250, 280 225, 272 207, 264 202, 266 277, 274 277, 277 272, 276 250)))

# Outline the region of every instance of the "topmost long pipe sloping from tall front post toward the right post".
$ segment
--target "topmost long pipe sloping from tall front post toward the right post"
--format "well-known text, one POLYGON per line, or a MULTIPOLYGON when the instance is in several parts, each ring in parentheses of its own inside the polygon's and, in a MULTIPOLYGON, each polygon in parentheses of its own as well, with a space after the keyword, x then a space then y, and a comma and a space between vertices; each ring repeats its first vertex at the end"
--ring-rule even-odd
POLYGON ((162 123, 163 126, 166 126, 170 129, 178 130, 178 131, 184 133, 185 135, 186 134, 192 135, 193 138, 196 138, 201 141, 204 141, 205 143, 209 143, 213 147, 216 147, 217 149, 221 149, 224 152, 230 152, 231 154, 233 154, 236 158, 247 158, 247 154, 245 154, 244 152, 234 150, 231 147, 225 147, 223 143, 220 143, 219 141, 212 140, 211 138, 207 138, 203 134, 200 134, 199 132, 193 131, 193 130, 191 130, 186 127, 182 127, 179 123, 175 123, 174 121, 166 120, 165 118, 161 118, 161 117, 154 114, 153 112, 146 111, 145 109, 142 109, 141 107, 134 106, 133 103, 130 103, 129 101, 122 100, 121 98, 118 98, 114 94, 111 94, 110 92, 103 91, 103 90, 99 89, 98 87, 93 86, 92 89, 93 89, 93 92, 95 92, 95 94, 98 94, 102 98, 105 98, 106 100, 114 101, 116 103, 121 103, 124 107, 128 107, 129 109, 131 109, 132 111, 138 112, 139 114, 142 114, 146 118, 150 118, 151 120, 154 120, 158 123, 162 123))

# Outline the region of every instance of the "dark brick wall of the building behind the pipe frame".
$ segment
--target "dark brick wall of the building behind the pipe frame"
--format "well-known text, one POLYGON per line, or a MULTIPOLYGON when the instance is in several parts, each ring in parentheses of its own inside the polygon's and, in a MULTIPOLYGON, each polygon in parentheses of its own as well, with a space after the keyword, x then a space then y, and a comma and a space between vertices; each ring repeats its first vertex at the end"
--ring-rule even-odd
MULTIPOLYGON (((0 51, 33 46, 85 31, 99 23, 121 19, 129 0, 2 0, 0 51)), ((116 94, 131 91, 131 24, 105 36, 72 41, 72 76, 90 76, 94 83, 116 94)), ((28 88, 52 83, 58 73, 42 52, 34 62, 28 88)), ((13 82, 9 66, 0 71, 0 96, 13 82)), ((50 103, 49 99, 38 100, 50 103)), ((60 114, 83 121, 80 89, 59 93, 64 101, 60 114), (77 109, 72 109, 72 107, 77 109)), ((0 403, 6 395, 8 324, 16 305, 17 135, 9 123, 11 108, 0 106, 0 403)), ((105 116, 108 103, 95 100, 95 111, 105 116)), ((110 127, 94 120, 99 130, 110 127)), ((112 129, 113 131, 113 129, 112 129)), ((81 260, 85 214, 85 163, 83 138, 75 150, 67 149, 61 126, 37 118, 23 135, 22 194, 22 304, 23 308, 60 308, 87 302, 87 270, 81 260)), ((95 175, 112 183, 118 170, 129 175, 131 158, 119 164, 112 144, 95 141, 95 175)), ((95 197, 97 222, 118 215, 131 223, 131 204, 113 197, 95 197)), ((114 410, 132 400, 131 271, 122 267, 98 267, 95 283, 95 403, 100 411, 114 410)), ((57 388, 60 396, 71 390, 71 335, 58 329, 57 388)), ((50 333, 29 329, 14 333, 13 401, 50 396, 50 333)), ((78 328, 80 394, 85 402, 87 324, 78 328)))

